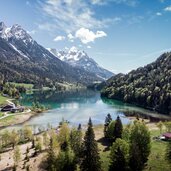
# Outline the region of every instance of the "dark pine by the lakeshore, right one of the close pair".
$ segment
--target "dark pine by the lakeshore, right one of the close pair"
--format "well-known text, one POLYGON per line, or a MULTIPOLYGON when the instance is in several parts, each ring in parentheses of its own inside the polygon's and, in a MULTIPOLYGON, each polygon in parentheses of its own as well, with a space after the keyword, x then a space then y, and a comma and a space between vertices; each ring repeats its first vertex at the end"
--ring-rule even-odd
POLYGON ((114 140, 116 140, 117 138, 122 138, 122 131, 123 131, 123 125, 120 117, 118 116, 114 126, 114 132, 113 132, 114 140))

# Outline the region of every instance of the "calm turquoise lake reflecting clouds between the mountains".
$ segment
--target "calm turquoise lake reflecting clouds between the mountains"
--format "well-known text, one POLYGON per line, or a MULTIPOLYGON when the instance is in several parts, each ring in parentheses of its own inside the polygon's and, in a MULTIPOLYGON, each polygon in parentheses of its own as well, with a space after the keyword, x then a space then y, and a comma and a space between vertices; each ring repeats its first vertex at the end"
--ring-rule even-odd
POLYGON ((68 120, 70 125, 77 126, 79 123, 86 125, 89 117, 92 118, 95 125, 104 124, 108 113, 113 119, 119 115, 123 124, 127 124, 131 121, 124 116, 124 111, 135 111, 156 116, 156 113, 143 108, 117 100, 102 99, 99 92, 87 89, 65 92, 35 91, 32 94, 24 94, 20 102, 25 106, 31 106, 34 101, 49 106, 50 110, 36 115, 24 124, 10 126, 9 128, 21 128, 23 125, 46 128, 48 124, 57 127, 62 119, 68 120))

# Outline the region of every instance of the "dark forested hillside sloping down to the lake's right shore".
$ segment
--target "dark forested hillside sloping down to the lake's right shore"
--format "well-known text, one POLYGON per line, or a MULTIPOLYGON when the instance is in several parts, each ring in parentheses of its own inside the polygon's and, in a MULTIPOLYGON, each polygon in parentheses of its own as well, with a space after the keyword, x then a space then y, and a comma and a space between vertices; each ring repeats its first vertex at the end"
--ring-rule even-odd
POLYGON ((112 77, 101 95, 171 114, 171 52, 145 67, 112 77))

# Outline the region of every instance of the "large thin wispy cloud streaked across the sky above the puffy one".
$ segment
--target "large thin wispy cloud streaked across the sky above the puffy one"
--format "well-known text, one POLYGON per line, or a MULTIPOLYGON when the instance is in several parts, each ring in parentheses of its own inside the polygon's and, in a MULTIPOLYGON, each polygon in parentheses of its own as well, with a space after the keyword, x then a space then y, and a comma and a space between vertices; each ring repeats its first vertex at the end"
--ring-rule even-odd
POLYGON ((78 30, 81 27, 98 29, 107 27, 115 22, 111 18, 97 19, 88 1, 80 0, 45 0, 39 1, 41 12, 48 17, 49 23, 41 23, 39 28, 60 29, 67 33, 78 30))

